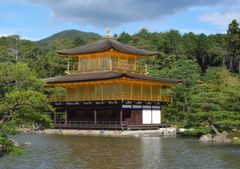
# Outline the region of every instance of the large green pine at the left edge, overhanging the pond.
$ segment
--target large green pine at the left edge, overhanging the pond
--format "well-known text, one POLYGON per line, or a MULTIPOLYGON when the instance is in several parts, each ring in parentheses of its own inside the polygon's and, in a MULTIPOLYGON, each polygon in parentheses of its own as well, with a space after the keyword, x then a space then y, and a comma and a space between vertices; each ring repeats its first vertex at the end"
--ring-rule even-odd
POLYGON ((8 139, 20 126, 50 127, 43 83, 26 64, 0 64, 0 156, 16 150, 8 139))

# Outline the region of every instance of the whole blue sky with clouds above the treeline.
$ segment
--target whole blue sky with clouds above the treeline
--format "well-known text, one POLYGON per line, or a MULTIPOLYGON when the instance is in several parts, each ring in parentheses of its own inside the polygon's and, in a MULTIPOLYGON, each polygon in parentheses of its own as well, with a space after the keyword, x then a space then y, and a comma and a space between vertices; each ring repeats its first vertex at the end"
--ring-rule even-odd
POLYGON ((240 21, 240 0, 0 0, 0 36, 40 40, 63 30, 130 34, 146 28, 224 33, 240 21))

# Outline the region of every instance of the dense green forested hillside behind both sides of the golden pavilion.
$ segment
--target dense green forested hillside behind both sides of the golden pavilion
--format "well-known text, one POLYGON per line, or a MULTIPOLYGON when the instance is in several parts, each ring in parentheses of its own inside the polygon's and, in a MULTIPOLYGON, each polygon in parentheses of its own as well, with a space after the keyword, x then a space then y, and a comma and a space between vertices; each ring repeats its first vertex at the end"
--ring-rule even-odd
MULTIPOLYGON (((25 63, 38 78, 63 74, 66 60, 56 50, 81 46, 100 38, 97 34, 66 31, 32 42, 19 36, 0 38, 0 62, 25 63)), ((174 102, 163 107, 164 122, 209 131, 240 128, 240 29, 236 20, 226 34, 180 34, 177 30, 140 30, 115 35, 118 41, 157 51, 148 58, 151 76, 182 79, 174 89, 174 102)))

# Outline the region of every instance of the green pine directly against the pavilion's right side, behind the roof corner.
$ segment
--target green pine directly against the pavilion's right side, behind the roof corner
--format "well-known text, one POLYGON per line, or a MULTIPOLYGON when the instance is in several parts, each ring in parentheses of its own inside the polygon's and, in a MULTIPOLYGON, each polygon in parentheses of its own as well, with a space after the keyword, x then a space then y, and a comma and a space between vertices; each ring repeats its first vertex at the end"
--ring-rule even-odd
POLYGON ((194 61, 179 59, 171 63, 170 68, 163 68, 161 77, 181 79, 182 83, 173 89, 173 103, 163 106, 163 118, 166 123, 186 124, 190 106, 190 97, 195 93, 200 69, 194 61))

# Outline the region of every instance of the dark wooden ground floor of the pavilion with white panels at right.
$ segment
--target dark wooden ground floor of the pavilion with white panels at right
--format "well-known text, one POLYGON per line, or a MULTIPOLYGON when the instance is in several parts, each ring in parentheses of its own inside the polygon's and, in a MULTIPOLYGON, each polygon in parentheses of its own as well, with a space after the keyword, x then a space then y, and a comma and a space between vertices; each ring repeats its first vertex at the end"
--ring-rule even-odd
POLYGON ((168 127, 161 123, 160 103, 54 103, 54 128, 144 130, 168 127))

